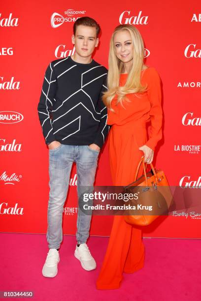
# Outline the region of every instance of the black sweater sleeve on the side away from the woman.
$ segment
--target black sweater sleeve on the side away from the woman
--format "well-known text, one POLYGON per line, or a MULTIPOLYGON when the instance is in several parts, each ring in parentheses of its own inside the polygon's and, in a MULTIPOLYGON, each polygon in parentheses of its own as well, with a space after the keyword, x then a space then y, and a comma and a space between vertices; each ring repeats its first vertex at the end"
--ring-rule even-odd
POLYGON ((40 100, 37 106, 38 117, 46 144, 50 144, 56 140, 53 134, 52 120, 50 118, 52 106, 55 101, 56 88, 57 77, 54 72, 54 67, 52 63, 50 63, 45 72, 40 100))

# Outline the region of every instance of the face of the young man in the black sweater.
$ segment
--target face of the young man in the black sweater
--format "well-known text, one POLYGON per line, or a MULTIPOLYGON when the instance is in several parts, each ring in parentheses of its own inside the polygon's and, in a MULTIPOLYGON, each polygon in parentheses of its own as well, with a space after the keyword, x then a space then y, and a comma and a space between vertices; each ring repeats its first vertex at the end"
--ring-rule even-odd
POLYGON ((72 35, 72 43, 75 45, 76 53, 83 58, 91 56, 95 47, 99 44, 96 36, 96 28, 85 25, 78 25, 75 35, 72 35))

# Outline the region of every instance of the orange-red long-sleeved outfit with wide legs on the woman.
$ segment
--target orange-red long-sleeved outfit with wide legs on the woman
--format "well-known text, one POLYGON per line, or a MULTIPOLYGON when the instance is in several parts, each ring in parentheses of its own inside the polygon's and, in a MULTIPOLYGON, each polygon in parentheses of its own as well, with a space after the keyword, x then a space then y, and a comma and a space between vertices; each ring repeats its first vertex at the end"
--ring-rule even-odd
MULTIPOLYGON (((120 75, 124 86, 128 74, 120 75)), ((134 181, 139 160, 144 154, 138 148, 144 144, 155 149, 162 138, 161 81, 155 68, 141 71, 141 84, 147 83, 143 94, 128 94, 130 102, 116 105, 116 96, 108 110, 107 124, 112 125, 108 143, 112 181, 115 186, 128 185, 134 181), (146 122, 151 121, 147 141, 146 122)), ((143 173, 142 166, 138 177, 143 173)), ((128 224, 124 216, 114 216, 110 239, 97 289, 116 289, 120 286, 123 272, 133 273, 144 265, 144 245, 141 229, 128 224)))

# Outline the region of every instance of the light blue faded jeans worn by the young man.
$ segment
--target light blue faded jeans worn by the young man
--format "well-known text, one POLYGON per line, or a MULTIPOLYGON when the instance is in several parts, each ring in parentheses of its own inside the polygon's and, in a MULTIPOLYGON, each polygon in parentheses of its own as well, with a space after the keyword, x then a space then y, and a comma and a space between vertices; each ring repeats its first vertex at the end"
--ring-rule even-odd
MULTIPOLYGON (((75 162, 77 167, 77 194, 79 198, 83 186, 89 186, 89 189, 93 188, 99 152, 90 149, 87 145, 64 144, 61 144, 57 149, 49 150, 50 194, 47 210, 49 248, 58 249, 63 240, 63 208, 67 198, 72 163, 75 162)), ((83 213, 78 206, 77 243, 86 243, 89 237, 90 224, 91 215, 83 213)))

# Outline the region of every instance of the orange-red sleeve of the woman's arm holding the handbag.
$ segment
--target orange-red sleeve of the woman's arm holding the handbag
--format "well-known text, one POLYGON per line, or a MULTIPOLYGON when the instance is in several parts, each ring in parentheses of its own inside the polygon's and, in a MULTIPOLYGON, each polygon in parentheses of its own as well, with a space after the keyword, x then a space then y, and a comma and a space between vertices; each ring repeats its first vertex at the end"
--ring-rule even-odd
POLYGON ((149 111, 151 128, 149 139, 145 145, 154 151, 158 141, 162 139, 163 111, 161 107, 161 79, 156 69, 153 68, 152 70, 153 72, 150 74, 147 90, 151 104, 151 109, 149 111))

